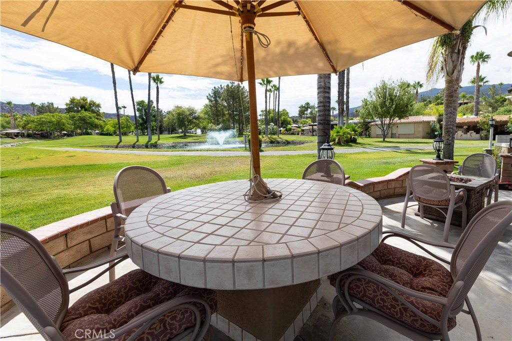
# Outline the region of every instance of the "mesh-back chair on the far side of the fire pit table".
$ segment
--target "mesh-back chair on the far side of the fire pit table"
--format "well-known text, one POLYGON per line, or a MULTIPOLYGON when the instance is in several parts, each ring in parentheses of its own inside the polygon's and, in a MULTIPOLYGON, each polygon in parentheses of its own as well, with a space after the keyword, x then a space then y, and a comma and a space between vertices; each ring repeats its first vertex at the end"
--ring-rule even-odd
POLYGON ((493 186, 487 193, 487 204, 490 203, 493 193, 494 202, 498 201, 498 182, 500 180, 499 170, 496 169, 496 159, 489 154, 474 153, 468 155, 457 172, 452 174, 486 177, 494 179, 493 186))

